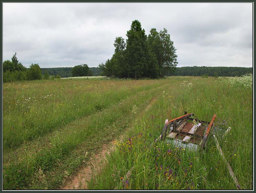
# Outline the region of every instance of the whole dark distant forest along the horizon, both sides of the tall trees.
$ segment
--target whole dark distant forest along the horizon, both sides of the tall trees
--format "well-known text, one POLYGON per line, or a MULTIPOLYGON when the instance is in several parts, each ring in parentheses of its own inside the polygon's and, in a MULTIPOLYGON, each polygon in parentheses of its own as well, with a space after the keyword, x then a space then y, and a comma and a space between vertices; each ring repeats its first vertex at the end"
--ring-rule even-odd
MULTIPOLYGON (((71 77, 72 67, 60 68, 41 68, 42 74, 47 72, 49 75, 60 75, 61 77, 71 77)), ((99 67, 89 67, 93 72, 93 76, 101 76, 101 69, 99 67)), ((207 67, 207 66, 193 66, 193 67, 176 67, 175 72, 171 72, 170 76, 202 76, 208 74, 214 76, 242 76, 244 74, 253 73, 253 68, 245 67, 207 67)), ((167 74, 166 74, 167 75, 167 74)))

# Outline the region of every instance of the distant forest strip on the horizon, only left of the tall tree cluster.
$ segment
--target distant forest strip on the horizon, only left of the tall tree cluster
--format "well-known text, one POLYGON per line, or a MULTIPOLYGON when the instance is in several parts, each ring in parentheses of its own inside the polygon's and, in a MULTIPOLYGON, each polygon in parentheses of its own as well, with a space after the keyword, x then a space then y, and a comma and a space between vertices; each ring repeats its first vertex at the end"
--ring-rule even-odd
MULTIPOLYGON (((58 67, 58 68, 41 68, 42 74, 47 71, 49 75, 60 75, 60 77, 71 77, 71 70, 73 67, 58 67)), ((100 76, 101 75, 101 69, 98 67, 89 67, 89 69, 92 71, 92 76, 100 76)))

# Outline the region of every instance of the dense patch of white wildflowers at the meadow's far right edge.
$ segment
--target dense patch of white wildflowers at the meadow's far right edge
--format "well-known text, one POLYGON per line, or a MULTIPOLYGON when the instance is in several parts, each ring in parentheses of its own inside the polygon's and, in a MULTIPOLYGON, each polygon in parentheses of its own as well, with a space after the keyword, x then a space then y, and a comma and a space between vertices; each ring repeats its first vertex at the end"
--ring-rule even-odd
POLYGON ((225 84, 229 84, 230 86, 246 87, 246 88, 253 87, 252 74, 245 74, 240 77, 228 77, 228 78, 219 77, 219 80, 225 84))

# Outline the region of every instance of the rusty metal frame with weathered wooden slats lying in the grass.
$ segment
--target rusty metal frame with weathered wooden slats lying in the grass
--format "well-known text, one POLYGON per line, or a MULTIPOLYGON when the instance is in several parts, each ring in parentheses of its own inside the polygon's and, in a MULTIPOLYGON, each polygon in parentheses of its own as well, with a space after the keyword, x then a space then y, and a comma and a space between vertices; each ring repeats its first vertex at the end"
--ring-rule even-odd
POLYGON ((192 118, 193 115, 185 112, 183 116, 166 121, 160 139, 181 148, 204 149, 216 115, 211 122, 192 118))

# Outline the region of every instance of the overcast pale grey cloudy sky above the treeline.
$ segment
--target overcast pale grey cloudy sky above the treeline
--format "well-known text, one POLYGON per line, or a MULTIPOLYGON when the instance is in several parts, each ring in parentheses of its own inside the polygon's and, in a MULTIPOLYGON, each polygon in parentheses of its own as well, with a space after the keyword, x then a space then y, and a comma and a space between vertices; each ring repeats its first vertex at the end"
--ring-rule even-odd
POLYGON ((253 67, 253 3, 3 3, 3 61, 97 67, 135 19, 166 28, 182 66, 253 67))

